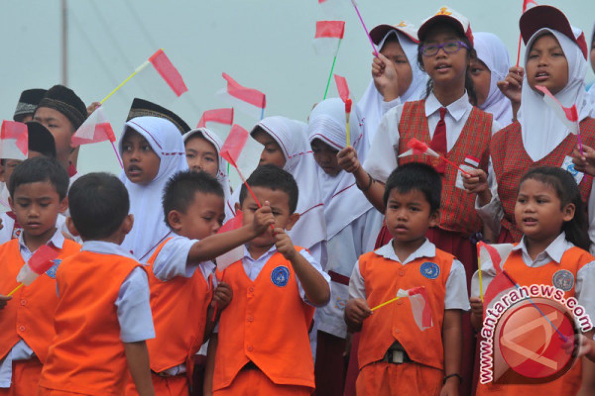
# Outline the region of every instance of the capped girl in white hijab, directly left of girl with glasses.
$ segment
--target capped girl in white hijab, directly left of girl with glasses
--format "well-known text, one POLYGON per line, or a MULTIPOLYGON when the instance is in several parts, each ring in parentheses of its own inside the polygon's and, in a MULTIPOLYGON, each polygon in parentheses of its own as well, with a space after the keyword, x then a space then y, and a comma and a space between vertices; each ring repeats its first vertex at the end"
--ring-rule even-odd
POLYGON ((396 26, 378 25, 370 30, 378 46, 372 61, 372 81, 357 109, 364 119, 364 136, 372 144, 384 113, 397 104, 421 99, 428 75, 417 66, 417 28, 402 21, 396 26))

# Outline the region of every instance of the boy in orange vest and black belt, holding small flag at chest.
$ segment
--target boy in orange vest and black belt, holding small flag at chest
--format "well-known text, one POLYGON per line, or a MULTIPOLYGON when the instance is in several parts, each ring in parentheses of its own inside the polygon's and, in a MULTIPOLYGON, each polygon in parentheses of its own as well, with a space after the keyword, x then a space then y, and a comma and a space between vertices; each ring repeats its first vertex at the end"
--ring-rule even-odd
POLYGON ((465 270, 426 237, 439 221, 442 183, 433 167, 399 166, 386 182, 386 226, 393 239, 360 256, 349 283, 345 321, 359 338, 358 395, 458 395, 461 312, 469 310, 465 270), (399 290, 424 287, 433 324, 420 330, 399 290))

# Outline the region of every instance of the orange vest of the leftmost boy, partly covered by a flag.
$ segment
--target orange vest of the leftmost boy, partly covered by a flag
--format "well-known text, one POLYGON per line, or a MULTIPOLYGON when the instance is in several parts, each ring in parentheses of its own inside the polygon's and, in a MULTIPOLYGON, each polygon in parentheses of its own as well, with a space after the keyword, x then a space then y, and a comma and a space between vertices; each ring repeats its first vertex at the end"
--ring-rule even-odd
MULTIPOLYGON (((80 245, 64 240, 57 260, 80 251, 80 245)), ((21 256, 18 239, 0 245, 0 293, 8 294, 17 286, 17 274, 25 262, 21 256)), ((56 264, 61 265, 60 262, 56 264)), ((40 275, 30 285, 12 294, 12 300, 0 310, 0 360, 21 338, 35 352, 40 362, 45 362, 48 347, 56 334, 54 310, 58 303, 55 278, 56 267, 40 275)))

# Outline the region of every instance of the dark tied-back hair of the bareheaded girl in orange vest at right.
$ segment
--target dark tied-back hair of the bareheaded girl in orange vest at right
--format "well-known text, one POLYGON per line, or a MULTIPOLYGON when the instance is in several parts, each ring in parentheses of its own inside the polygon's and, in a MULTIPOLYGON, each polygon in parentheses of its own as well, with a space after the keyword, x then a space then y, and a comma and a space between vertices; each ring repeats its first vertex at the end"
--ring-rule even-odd
POLYGON ((575 205, 574 217, 562 224, 562 231, 566 232, 566 239, 574 243, 575 246, 589 251, 592 242, 588 234, 587 211, 577 182, 571 173, 557 167, 543 166, 525 173, 521 183, 528 179, 537 180, 555 189, 558 198, 560 198, 560 209, 568 204, 575 205))

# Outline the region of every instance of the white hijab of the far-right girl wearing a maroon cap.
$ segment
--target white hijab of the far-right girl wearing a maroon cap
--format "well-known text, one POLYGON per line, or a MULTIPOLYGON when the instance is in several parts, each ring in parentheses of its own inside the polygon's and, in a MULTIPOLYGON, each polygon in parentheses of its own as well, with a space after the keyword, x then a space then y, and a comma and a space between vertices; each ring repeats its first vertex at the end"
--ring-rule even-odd
MULTIPOLYGON (((568 84, 555 95, 556 99, 566 107, 576 104, 578 119, 582 121, 593 112, 593 106, 591 106, 585 90, 587 61, 575 42, 558 30, 541 28, 527 42, 525 67, 531 52, 531 45, 544 33, 552 33, 556 36, 568 61, 568 84)), ((526 75, 522 81, 521 108, 518 113, 518 121, 521 123, 521 136, 525 151, 533 161, 538 161, 547 156, 571 133, 558 119, 553 110, 543 102, 543 94, 531 89, 526 75)))

